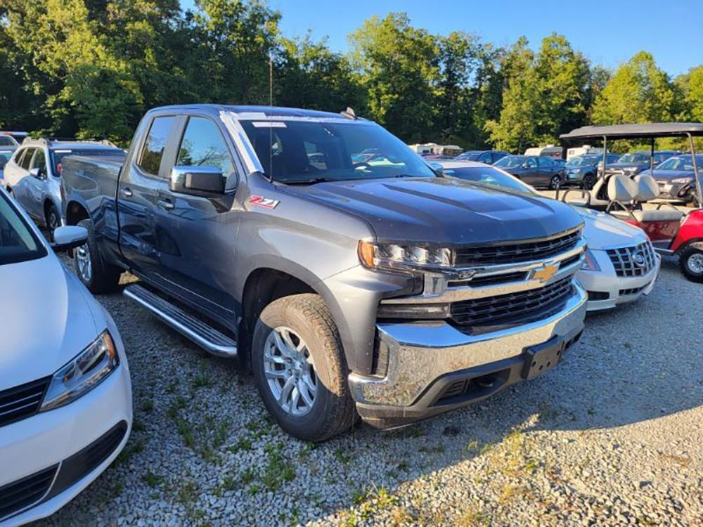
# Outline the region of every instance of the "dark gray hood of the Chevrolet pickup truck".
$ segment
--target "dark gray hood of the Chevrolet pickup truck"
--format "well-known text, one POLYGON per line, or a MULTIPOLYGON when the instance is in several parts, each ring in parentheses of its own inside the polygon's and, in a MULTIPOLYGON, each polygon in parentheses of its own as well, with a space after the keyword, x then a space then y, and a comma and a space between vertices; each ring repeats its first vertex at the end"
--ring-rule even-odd
POLYGON ((291 191, 365 219, 380 242, 475 245, 540 238, 581 223, 555 200, 456 178, 337 181, 291 191))

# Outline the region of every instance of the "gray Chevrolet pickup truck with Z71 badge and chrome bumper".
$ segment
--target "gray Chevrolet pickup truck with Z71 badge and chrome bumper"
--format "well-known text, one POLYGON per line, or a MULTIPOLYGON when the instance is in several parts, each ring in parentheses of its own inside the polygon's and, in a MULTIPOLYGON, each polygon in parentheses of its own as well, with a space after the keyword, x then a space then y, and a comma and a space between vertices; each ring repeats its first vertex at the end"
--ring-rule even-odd
POLYGON ((124 164, 67 158, 62 190, 79 278, 134 273, 124 294, 251 367, 299 438, 479 401, 583 330, 579 214, 444 178, 353 112, 157 108, 124 164))

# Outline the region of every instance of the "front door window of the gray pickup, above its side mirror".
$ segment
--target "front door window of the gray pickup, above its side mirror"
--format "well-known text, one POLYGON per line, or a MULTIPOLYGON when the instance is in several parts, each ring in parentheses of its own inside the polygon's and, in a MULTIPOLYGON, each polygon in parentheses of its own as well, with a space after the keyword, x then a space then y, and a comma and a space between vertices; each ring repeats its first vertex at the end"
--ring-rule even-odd
POLYGON ((232 156, 217 125, 204 117, 190 117, 178 151, 179 167, 217 167, 227 177, 234 171, 232 156))

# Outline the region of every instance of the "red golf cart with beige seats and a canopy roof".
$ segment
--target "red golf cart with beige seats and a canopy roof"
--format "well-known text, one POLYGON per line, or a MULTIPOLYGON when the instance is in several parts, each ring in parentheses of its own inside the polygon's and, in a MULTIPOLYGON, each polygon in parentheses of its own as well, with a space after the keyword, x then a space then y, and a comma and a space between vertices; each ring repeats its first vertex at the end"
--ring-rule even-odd
MULTIPOLYGON (((603 160, 598 169, 598 180, 591 191, 576 190, 581 194, 580 200, 569 203, 605 210, 619 219, 633 223, 645 230, 654 249, 660 254, 679 256, 681 271, 693 282, 703 282, 703 193, 701 176, 696 162, 694 137, 703 137, 702 123, 650 123, 650 124, 614 124, 612 126, 583 126, 569 134, 563 134, 562 148, 592 144, 602 139, 603 160), (644 208, 643 203, 656 200, 659 195, 659 183, 648 173, 633 174, 607 168, 606 153, 608 141, 617 139, 649 140, 652 148, 650 168, 654 169, 654 139, 660 137, 688 138, 695 174, 696 208, 680 210, 671 204, 659 203, 651 209, 644 208)), ((574 190, 567 190, 562 200, 574 190)), ((559 194, 557 190, 557 199, 559 194)), ((634 262, 636 264, 637 262, 634 262)))

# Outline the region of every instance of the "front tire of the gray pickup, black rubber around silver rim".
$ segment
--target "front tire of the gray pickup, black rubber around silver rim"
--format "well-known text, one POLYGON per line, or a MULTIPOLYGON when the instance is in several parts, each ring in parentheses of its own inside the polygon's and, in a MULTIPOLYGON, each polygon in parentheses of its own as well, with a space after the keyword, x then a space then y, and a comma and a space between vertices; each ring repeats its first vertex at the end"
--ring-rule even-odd
POLYGON ((304 441, 325 441, 347 431, 356 420, 349 392, 347 361, 332 315, 316 294, 295 294, 271 302, 257 320, 252 341, 252 370, 259 395, 278 425, 304 441), (264 373, 266 339, 276 328, 290 328, 307 344, 314 362, 317 391, 305 415, 292 415, 276 400, 264 373))

